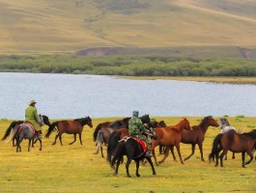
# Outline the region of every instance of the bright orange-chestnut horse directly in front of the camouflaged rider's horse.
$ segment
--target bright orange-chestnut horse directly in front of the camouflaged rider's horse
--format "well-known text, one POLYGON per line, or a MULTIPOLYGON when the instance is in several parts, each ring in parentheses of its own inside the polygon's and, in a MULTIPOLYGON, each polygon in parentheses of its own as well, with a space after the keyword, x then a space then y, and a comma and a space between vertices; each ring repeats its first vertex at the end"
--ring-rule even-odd
POLYGON ((166 159, 166 157, 169 155, 169 150, 173 149, 174 146, 177 149, 181 163, 182 164, 184 163, 181 152, 180 152, 180 142, 182 140, 183 129, 190 129, 190 124, 185 118, 183 118, 183 120, 180 121, 179 124, 163 127, 163 128, 155 128, 154 131, 156 132, 157 139, 152 140, 151 151, 153 152, 156 165, 158 165, 158 163, 156 161, 155 148, 158 145, 162 145, 166 147, 166 150, 164 152, 164 157, 162 158, 161 161, 159 161, 159 164, 166 159))

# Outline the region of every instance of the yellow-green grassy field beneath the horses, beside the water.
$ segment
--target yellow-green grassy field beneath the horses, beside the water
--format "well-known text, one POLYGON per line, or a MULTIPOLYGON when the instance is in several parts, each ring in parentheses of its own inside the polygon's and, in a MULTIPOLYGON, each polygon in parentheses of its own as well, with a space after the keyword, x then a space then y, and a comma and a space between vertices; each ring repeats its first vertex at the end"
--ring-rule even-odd
MULTIPOLYGON (((177 124, 181 117, 161 117, 166 124, 177 124)), ((191 125, 201 122, 201 117, 188 117, 191 125)), ((218 119, 215 117, 215 119, 218 119)), ((115 118, 93 119, 94 127, 115 118)), ((255 128, 256 118, 228 118, 230 123, 242 131, 255 128)), ((11 121, 1 120, 0 136, 5 133, 11 121)), ((43 134, 47 127, 43 126, 43 134)), ((58 142, 51 146, 56 133, 49 139, 43 138, 43 151, 39 145, 27 152, 27 141, 22 142, 22 152, 16 153, 11 143, 0 144, 0 184, 1 192, 253 192, 256 189, 256 161, 242 168, 241 154, 235 160, 228 154, 224 168, 215 168, 209 162, 202 162, 198 148, 195 154, 182 165, 167 157, 156 166, 156 176, 147 164, 140 167, 141 178, 135 177, 135 164, 130 165, 131 179, 126 176, 125 165, 120 166, 119 175, 113 177, 105 158, 95 152, 92 135, 94 129, 86 126, 83 131, 83 146, 78 142, 69 146, 72 136, 63 135, 64 146, 58 142)), ((212 148, 213 137, 219 128, 209 127, 204 142, 204 156, 212 148)), ((182 145, 182 155, 190 153, 190 146, 182 145)), ((176 152, 176 151, 175 151, 176 152)), ((104 147, 105 153, 105 147, 104 147)), ((158 157, 159 159, 159 157, 158 157)))

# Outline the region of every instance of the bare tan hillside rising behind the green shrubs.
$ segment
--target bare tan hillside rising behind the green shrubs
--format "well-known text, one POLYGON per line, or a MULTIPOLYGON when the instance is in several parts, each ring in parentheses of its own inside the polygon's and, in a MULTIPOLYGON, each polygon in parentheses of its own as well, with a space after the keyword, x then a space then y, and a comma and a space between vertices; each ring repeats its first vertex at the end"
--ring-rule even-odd
MULTIPOLYGON (((245 57, 255 55, 253 0, 0 0, 0 8, 0 49, 6 54, 242 47, 250 50, 245 57)), ((244 57, 240 49, 236 53, 244 57)))

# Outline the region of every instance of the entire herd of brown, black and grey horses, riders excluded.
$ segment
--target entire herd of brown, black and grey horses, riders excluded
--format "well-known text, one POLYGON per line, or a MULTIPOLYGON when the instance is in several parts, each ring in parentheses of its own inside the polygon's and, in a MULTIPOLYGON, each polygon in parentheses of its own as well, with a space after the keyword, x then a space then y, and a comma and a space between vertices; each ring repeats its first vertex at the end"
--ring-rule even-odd
MULTIPOLYGON (((88 117, 75 119, 75 120, 63 120, 51 123, 47 116, 40 115, 41 125, 48 125, 47 133, 45 137, 48 138, 53 130, 57 130, 55 140, 52 145, 56 144, 59 138, 60 144, 62 143, 62 134, 68 133, 73 135, 73 144, 76 141, 76 135, 79 136, 80 144, 82 145, 81 133, 83 127, 87 124, 93 127, 92 119, 88 117)), ((151 157, 146 156, 146 150, 141 142, 137 139, 129 137, 128 134, 128 121, 131 118, 124 118, 121 120, 113 122, 104 122, 98 124, 95 128, 93 140, 97 144, 97 150, 95 154, 101 152, 101 156, 104 157, 102 147, 105 145, 107 147, 107 161, 114 168, 114 175, 118 174, 118 168, 120 163, 123 161, 124 156, 128 157, 126 163, 127 176, 130 177, 128 172, 128 167, 131 160, 136 163, 136 176, 139 177, 139 164, 141 160, 147 159, 150 163, 153 171, 153 175, 156 175, 154 164, 151 157)), ((152 140, 152 145, 150 150, 153 152, 153 157, 156 165, 162 163, 169 152, 172 153, 173 159, 176 161, 176 156, 174 154, 174 147, 176 148, 180 161, 184 164, 184 161, 189 159, 195 151, 195 146, 198 145, 201 154, 201 160, 205 161, 203 154, 203 142, 205 140, 205 134, 209 126, 221 127, 221 132, 215 136, 213 139, 212 152, 209 154, 210 162, 215 161, 215 166, 218 165, 218 160, 220 160, 220 166, 223 167, 223 157, 228 151, 233 152, 233 157, 235 158, 235 152, 242 152, 242 167, 249 164, 253 159, 253 152, 256 148, 256 129, 251 130, 246 133, 237 132, 236 128, 232 127, 226 118, 220 118, 219 123, 213 119, 213 116, 205 117, 200 124, 190 126, 188 120, 183 118, 178 124, 167 126, 164 121, 156 122, 151 121, 149 115, 144 115, 140 117, 142 123, 145 125, 147 132, 144 134, 150 137, 152 140), (191 153, 182 158, 182 153, 180 150, 180 144, 190 144, 191 153), (159 147, 159 152, 163 153, 163 158, 158 162, 156 160, 156 147, 159 147), (247 153, 250 159, 245 162, 245 153, 247 153)), ((21 142, 23 139, 28 139, 28 151, 30 147, 34 146, 37 142, 35 138, 35 131, 29 124, 23 123, 22 121, 14 121, 7 128, 6 133, 2 140, 6 140, 12 133, 10 140, 13 140, 13 146, 16 147, 16 152, 21 152, 21 142), (12 132, 11 132, 12 131, 12 132)), ((40 151, 42 151, 42 140, 40 141, 40 151)), ((256 159, 256 157, 255 157, 256 159)))

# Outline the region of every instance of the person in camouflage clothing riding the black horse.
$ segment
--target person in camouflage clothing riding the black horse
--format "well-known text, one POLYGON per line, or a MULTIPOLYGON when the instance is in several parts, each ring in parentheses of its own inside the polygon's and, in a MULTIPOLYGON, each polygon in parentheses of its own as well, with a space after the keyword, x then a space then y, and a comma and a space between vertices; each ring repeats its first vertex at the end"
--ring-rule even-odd
POLYGON ((130 137, 136 137, 144 141, 147 145, 147 152, 146 156, 153 156, 150 147, 151 147, 151 140, 148 139, 143 133, 146 133, 146 129, 144 125, 142 124, 141 120, 138 118, 139 112, 133 111, 132 112, 132 118, 128 121, 128 133, 130 137))

